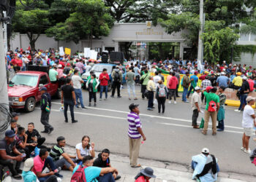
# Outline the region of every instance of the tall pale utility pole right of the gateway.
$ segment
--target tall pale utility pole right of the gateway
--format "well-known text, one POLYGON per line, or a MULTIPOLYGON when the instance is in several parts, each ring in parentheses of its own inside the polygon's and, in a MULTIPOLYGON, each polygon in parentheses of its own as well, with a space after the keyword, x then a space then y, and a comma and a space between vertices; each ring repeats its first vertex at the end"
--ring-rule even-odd
POLYGON ((200 0, 200 30, 198 36, 197 61, 203 61, 203 40, 200 36, 203 34, 203 0, 200 0))

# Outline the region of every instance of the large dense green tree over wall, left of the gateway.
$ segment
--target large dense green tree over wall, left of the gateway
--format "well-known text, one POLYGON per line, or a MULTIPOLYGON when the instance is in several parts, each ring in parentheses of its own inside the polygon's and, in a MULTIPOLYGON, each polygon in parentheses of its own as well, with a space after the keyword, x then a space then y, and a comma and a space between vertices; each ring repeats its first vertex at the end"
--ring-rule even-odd
POLYGON ((74 41, 108 36, 113 25, 113 18, 101 0, 64 0, 71 9, 70 17, 64 23, 57 23, 46 31, 48 36, 56 40, 74 41))

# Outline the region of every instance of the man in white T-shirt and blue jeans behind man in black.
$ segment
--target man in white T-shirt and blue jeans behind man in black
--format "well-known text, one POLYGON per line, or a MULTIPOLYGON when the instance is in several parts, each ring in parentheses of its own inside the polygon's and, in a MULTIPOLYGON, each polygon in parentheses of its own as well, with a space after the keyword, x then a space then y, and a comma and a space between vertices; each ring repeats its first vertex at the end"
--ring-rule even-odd
POLYGON ((72 76, 73 87, 74 87, 74 90, 75 90, 75 99, 76 99, 76 103, 77 103, 75 105, 75 107, 79 108, 79 106, 78 106, 78 98, 79 98, 81 108, 86 108, 83 105, 83 94, 82 94, 82 89, 81 89, 83 79, 81 79, 81 77, 78 74, 79 74, 78 70, 75 70, 74 75, 72 76))

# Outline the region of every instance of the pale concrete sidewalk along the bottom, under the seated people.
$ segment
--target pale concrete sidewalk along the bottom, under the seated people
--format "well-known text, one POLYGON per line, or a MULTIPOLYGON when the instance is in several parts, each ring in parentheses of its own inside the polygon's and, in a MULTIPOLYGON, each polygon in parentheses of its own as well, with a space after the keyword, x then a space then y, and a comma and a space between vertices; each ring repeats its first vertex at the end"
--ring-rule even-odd
MULTIPOLYGON (((75 148, 66 146, 65 151, 68 154, 75 154, 75 148)), ((96 154, 97 157, 98 153, 96 154)), ((132 182, 135 181, 135 175, 138 174, 140 168, 129 167, 129 157, 121 154, 110 154, 110 162, 115 167, 121 179, 120 182, 132 182)), ((152 167, 154 175, 157 175, 156 179, 151 179, 151 182, 187 182, 193 181, 192 170, 189 166, 173 164, 170 162, 159 162, 150 159, 139 159, 142 167, 152 167)), ((61 175, 64 176, 63 182, 69 182, 71 178, 71 172, 67 170, 61 170, 61 175)), ((12 181, 15 181, 12 179, 12 181)), ((219 173, 218 181, 220 182, 243 182, 255 181, 255 177, 248 175, 241 175, 236 173, 219 173)), ((15 181, 18 182, 18 181, 15 181)), ((20 182, 20 181, 19 181, 20 182)))

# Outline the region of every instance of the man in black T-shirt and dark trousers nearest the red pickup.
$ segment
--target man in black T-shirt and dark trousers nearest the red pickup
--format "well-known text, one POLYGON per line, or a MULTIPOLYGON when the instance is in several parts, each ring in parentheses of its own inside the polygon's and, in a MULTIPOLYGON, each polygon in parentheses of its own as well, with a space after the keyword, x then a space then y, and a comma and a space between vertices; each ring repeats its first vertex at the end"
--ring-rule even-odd
POLYGON ((74 105, 77 104, 75 100, 75 90, 74 90, 74 87, 72 87, 71 79, 68 78, 66 82, 67 84, 61 87, 61 103, 64 103, 65 122, 68 122, 67 109, 69 106, 72 123, 75 123, 75 122, 78 122, 78 120, 75 120, 75 116, 74 116, 74 105))

